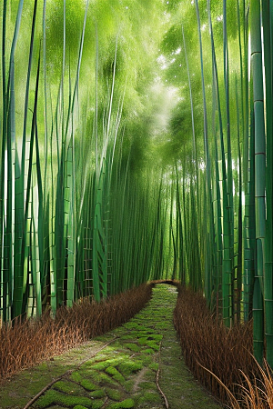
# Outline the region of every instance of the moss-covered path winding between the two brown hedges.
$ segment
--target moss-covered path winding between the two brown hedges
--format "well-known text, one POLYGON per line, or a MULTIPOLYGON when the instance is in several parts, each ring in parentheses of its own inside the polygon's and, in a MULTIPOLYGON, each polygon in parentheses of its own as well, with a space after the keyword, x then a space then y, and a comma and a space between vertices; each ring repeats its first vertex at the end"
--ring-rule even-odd
POLYGON ((0 409, 219 409, 181 356, 176 301, 176 287, 157 284, 126 324, 2 385, 0 409))

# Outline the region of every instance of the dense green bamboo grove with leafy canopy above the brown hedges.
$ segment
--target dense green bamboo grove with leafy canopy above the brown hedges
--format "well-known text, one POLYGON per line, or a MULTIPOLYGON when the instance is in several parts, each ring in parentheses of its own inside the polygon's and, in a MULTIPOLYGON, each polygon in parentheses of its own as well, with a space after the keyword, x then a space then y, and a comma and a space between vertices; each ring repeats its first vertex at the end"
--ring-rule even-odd
POLYGON ((173 278, 272 366, 270 2, 1 7, 2 322, 173 278))

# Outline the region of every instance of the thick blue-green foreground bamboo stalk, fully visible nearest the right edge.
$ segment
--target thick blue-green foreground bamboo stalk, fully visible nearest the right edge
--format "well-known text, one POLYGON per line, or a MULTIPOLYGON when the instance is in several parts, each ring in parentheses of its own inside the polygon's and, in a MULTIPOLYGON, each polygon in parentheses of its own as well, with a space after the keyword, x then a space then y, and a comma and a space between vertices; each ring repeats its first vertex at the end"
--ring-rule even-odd
POLYGON ((266 138, 264 121, 264 95, 262 73, 262 46, 260 31, 260 4, 250 2, 250 33, 251 33, 251 66, 253 70, 253 101, 255 121, 255 207, 256 207, 256 248, 257 275, 255 276, 253 299, 254 319, 254 352, 258 362, 263 360, 263 308, 261 303, 264 286, 265 261, 265 176, 266 176, 266 138), (256 312, 257 314, 254 314, 256 312), (257 316, 258 315, 258 316, 257 316))

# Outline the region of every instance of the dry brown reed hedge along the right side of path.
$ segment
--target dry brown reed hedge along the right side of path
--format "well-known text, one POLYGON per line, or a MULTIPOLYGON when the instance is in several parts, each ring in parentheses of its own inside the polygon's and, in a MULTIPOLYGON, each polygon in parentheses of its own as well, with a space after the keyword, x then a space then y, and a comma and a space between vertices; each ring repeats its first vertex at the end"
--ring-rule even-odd
POLYGON ((227 402, 227 391, 217 378, 237 394, 237 384, 242 385, 246 381, 242 372, 249 378, 258 374, 257 364, 251 355, 252 323, 227 328, 211 314, 202 294, 181 285, 177 288, 174 323, 186 364, 208 391, 222 402, 227 402))

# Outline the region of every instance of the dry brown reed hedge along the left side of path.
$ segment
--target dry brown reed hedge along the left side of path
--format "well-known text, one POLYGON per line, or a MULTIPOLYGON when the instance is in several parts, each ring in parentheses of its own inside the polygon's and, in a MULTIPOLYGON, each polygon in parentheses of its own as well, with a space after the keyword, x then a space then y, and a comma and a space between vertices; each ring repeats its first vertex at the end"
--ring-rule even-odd
POLYGON ((153 284, 142 284, 100 303, 82 300, 61 307, 53 319, 17 318, 0 328, 0 382, 13 374, 67 349, 105 334, 140 311, 152 294, 153 284))

